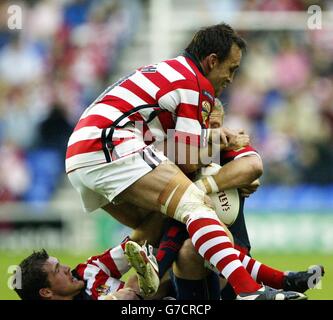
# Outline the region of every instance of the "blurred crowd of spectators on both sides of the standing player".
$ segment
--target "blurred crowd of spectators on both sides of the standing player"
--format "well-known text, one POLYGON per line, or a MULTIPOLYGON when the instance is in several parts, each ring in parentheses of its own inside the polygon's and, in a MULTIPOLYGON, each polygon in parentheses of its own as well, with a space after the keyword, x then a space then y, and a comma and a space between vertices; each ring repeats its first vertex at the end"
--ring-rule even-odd
MULTIPOLYGON (((24 28, 12 31, 5 19, 11 2, 1 1, 0 201, 52 196, 73 126, 109 84, 143 3, 16 1, 24 28)), ((237 10, 309 6, 300 0, 227 3, 237 10)), ((229 127, 251 133, 263 156, 265 183, 333 183, 331 31, 242 33, 249 50, 222 101, 229 127)))

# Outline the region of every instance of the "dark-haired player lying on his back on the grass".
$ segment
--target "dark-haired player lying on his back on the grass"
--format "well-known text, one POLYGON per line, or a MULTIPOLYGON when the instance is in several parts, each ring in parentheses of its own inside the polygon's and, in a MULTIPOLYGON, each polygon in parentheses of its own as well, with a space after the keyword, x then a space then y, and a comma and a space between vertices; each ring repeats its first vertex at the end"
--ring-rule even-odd
POLYGON ((158 266, 151 250, 151 246, 141 247, 125 239, 71 271, 43 249, 20 263, 15 291, 22 300, 143 299, 159 287, 158 266), (131 267, 136 274, 124 283, 120 278, 131 267))

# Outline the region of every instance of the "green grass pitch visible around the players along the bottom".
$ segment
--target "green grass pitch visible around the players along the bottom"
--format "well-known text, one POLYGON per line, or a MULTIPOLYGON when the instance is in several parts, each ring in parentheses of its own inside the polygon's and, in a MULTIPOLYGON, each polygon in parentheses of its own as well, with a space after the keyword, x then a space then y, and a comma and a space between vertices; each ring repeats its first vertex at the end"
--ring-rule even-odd
MULTIPOLYGON (((49 254, 56 256, 64 264, 74 267, 79 262, 85 261, 89 256, 98 252, 87 252, 87 254, 73 255, 65 252, 50 251, 49 254)), ((10 265, 21 262, 30 252, 9 253, 0 251, 0 300, 16 300, 16 293, 7 286, 10 274, 7 270, 10 265)), ((325 266, 325 277, 321 289, 307 291, 311 300, 333 300, 333 256, 323 254, 284 254, 284 253, 263 253, 252 252, 253 257, 258 261, 268 264, 281 270, 305 270, 314 264, 325 266)))

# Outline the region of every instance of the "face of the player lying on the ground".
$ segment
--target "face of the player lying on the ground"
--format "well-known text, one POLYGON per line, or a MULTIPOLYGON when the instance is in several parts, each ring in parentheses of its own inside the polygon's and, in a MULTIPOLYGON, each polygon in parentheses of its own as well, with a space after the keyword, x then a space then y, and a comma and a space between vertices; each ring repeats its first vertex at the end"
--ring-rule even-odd
POLYGON ((49 257, 44 264, 44 271, 48 274, 50 291, 53 299, 72 298, 84 287, 82 280, 72 276, 68 266, 60 264, 55 257, 49 257))

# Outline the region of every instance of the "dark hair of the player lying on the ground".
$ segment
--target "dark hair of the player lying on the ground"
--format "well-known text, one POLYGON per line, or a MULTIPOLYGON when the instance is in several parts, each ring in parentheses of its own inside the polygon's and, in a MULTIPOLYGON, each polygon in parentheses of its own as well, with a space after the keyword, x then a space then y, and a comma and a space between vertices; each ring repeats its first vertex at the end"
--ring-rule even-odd
POLYGON ((48 253, 42 249, 34 251, 20 263, 22 287, 15 288, 15 291, 22 300, 41 300, 39 290, 50 287, 48 274, 43 270, 48 258, 48 253))

